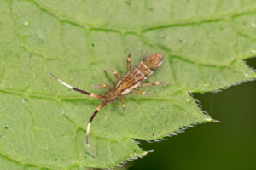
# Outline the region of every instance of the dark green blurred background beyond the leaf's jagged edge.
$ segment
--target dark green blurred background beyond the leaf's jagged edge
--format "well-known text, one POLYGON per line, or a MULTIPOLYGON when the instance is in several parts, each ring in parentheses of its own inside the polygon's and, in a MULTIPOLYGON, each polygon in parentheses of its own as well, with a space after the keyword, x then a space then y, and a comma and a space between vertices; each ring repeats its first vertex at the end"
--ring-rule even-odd
MULTIPOLYGON (((246 62, 256 68, 256 58, 246 62)), ((142 142, 144 150, 154 152, 133 161, 130 170, 256 169, 256 81, 194 98, 220 122, 189 127, 161 142, 142 142)))

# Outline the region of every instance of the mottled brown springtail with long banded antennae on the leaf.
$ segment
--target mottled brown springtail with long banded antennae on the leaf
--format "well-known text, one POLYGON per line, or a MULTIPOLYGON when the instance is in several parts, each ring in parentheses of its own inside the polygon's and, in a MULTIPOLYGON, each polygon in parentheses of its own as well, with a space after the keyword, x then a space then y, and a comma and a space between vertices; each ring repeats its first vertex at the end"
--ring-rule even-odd
POLYGON ((154 70, 157 69, 162 64, 163 59, 164 59, 164 54, 161 54, 161 53, 150 54, 146 59, 144 59, 134 69, 131 70, 131 53, 130 53, 128 55, 128 59, 127 59, 127 73, 125 74, 125 77, 119 79, 119 74, 116 71, 109 70, 109 69, 106 70, 106 71, 112 72, 118 81, 114 88, 111 88, 107 84, 94 85, 94 87, 103 87, 103 88, 109 89, 109 91, 104 96, 99 95, 99 94, 92 94, 92 93, 86 92, 84 90, 81 90, 79 88, 73 88, 72 86, 68 85, 66 82, 62 82, 61 79, 55 77, 55 75, 53 75, 51 72, 49 72, 49 74, 51 76, 55 77, 55 79, 57 81, 61 82, 61 84, 63 84, 67 88, 71 88, 79 93, 87 94, 96 99, 103 100, 102 104, 96 108, 96 111, 94 111, 94 113, 90 117, 90 120, 87 125, 87 130, 86 130, 86 144, 87 144, 88 148, 90 149, 91 153, 93 154, 93 156, 96 156, 96 155, 95 155, 94 151, 90 148, 88 139, 89 139, 90 123, 96 116, 97 112, 100 111, 102 109, 102 107, 104 107, 108 103, 112 103, 112 102, 116 101, 118 98, 121 98, 122 105, 123 105, 123 111, 125 113, 125 98, 124 98, 124 96, 126 94, 134 92, 137 94, 151 95, 149 93, 146 93, 143 91, 138 91, 136 89, 142 88, 142 87, 155 86, 158 84, 170 83, 170 82, 143 83, 150 75, 153 74, 154 70))

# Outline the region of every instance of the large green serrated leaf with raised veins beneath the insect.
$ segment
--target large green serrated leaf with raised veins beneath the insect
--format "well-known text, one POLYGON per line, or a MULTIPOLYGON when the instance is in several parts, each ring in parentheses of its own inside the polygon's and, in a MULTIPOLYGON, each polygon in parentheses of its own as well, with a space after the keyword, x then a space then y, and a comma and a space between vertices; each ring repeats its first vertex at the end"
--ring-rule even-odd
POLYGON ((190 92, 211 92, 256 77, 243 61, 256 53, 256 3, 225 1, 0 1, 0 168, 113 167, 145 156, 134 139, 162 139, 211 122, 190 92), (96 94, 93 84, 125 74, 141 54, 162 52, 163 65, 145 88, 153 96, 107 105, 63 87, 49 76, 96 94))

